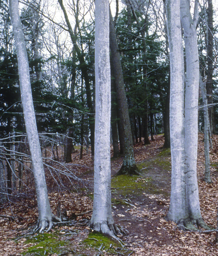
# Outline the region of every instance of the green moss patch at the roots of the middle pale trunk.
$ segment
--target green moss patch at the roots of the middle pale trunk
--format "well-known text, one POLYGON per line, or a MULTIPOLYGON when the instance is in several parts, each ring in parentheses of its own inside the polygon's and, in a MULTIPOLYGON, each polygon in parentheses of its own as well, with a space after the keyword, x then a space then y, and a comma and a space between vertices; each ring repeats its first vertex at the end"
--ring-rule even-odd
POLYGON ((110 253, 112 255, 129 255, 131 251, 124 248, 120 243, 112 240, 110 237, 104 236, 96 231, 90 232, 87 239, 83 241, 87 247, 95 248, 100 255, 110 253), (119 254, 118 254, 119 252, 119 254))

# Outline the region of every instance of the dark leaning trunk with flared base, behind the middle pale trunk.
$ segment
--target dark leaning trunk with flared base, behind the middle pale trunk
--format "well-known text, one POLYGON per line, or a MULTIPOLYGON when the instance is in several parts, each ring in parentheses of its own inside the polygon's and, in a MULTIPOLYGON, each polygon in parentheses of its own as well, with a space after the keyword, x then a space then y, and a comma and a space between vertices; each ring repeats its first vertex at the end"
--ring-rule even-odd
MULTIPOLYGON (((128 104, 126 100, 123 71, 120 62, 120 55, 118 52, 118 44, 116 38, 116 32, 113 23, 113 17, 110 11, 110 49, 111 49, 111 62, 114 72, 114 78, 116 83, 118 114, 120 118, 121 134, 124 138, 124 159, 121 169, 117 175, 121 174, 136 174, 138 175, 138 168, 135 163, 131 125, 129 118, 128 104)), ((119 137, 120 138, 120 137, 119 137)))

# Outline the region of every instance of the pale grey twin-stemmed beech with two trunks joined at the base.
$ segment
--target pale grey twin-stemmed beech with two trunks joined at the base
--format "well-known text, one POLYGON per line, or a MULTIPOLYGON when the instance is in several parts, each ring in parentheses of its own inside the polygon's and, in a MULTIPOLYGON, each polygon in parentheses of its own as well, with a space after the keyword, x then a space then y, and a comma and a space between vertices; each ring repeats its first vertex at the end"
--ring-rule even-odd
POLYGON ((196 24, 198 1, 195 3, 193 18, 187 0, 168 0, 166 6, 171 62, 172 155, 171 203, 167 217, 178 223, 182 229, 194 230, 195 225, 208 228, 201 217, 197 184, 199 61, 196 24), (180 22, 184 31, 186 77, 184 76, 180 22))

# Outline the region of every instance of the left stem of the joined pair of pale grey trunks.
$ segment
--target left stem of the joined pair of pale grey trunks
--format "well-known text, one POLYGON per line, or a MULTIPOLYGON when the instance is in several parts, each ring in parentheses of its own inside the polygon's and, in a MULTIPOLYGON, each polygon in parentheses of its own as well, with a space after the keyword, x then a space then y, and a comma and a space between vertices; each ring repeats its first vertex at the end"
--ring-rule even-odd
POLYGON ((171 201, 167 218, 183 225, 188 211, 185 196, 184 62, 180 0, 166 0, 166 13, 171 69, 169 122, 172 158, 171 201))

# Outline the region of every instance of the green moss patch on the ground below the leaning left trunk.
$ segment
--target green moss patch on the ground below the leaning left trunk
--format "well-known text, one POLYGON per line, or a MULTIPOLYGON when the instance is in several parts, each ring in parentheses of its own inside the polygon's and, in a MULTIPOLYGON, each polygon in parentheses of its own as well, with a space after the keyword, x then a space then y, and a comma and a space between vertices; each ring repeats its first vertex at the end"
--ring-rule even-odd
POLYGON ((67 245, 66 242, 60 241, 59 236, 55 233, 43 233, 30 236, 26 240, 26 243, 32 246, 28 247, 23 255, 59 254, 67 245))

